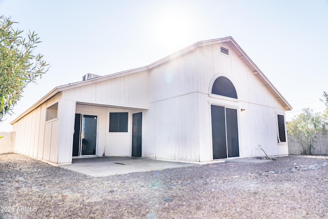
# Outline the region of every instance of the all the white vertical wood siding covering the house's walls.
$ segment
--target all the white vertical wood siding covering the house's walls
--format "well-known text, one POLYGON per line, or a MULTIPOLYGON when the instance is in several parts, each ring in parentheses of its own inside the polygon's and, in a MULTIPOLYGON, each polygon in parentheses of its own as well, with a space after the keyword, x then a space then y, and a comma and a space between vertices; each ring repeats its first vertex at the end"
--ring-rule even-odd
POLYGON ((262 156, 260 147, 268 155, 288 153, 288 145, 277 142, 276 113, 284 114, 283 106, 228 44, 198 47, 147 71, 62 91, 14 124, 15 151, 71 162, 74 116, 83 113, 97 116, 98 156, 131 156, 132 113, 142 111, 142 156, 211 161, 211 104, 237 109, 240 157, 262 156), (238 99, 210 94, 219 76, 230 79, 238 99), (46 121, 47 107, 56 102, 58 117, 46 121), (109 132, 110 112, 129 113, 127 133, 109 132))

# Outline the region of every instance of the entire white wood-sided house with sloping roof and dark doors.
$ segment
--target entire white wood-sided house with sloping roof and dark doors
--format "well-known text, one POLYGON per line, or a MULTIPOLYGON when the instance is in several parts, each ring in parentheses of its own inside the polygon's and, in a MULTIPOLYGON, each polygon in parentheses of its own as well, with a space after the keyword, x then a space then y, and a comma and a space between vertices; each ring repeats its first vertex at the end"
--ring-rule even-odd
POLYGON ((232 37, 145 67, 54 88, 11 124, 15 152, 53 164, 141 156, 173 161, 287 155, 291 105, 232 37))

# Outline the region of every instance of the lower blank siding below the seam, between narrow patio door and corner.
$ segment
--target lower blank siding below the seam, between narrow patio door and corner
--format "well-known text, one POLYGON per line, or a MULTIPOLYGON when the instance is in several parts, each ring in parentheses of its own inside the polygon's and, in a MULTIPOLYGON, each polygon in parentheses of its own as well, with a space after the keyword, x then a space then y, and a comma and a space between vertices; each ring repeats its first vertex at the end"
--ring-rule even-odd
POLYGON ((199 161, 197 93, 150 105, 145 113, 142 156, 199 161))

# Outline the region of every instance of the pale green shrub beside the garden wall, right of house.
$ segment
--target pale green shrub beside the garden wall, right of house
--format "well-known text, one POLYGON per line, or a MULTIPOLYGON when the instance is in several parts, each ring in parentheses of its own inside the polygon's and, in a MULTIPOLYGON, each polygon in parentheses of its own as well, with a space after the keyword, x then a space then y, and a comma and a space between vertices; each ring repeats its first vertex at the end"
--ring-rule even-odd
POLYGON ((288 133, 293 135, 302 147, 302 154, 311 154, 317 136, 327 132, 326 122, 320 113, 314 113, 310 108, 302 109, 303 113, 295 116, 288 123, 288 133))

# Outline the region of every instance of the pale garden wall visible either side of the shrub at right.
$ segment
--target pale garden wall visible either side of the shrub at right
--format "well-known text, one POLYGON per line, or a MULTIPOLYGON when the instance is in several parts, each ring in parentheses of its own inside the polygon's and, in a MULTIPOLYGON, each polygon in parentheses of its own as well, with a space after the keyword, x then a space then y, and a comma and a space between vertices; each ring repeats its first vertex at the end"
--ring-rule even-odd
MULTIPOLYGON (((293 135, 288 134, 288 150, 289 154, 301 154, 303 151, 302 146, 300 146, 293 135)), ((328 154, 328 135, 319 135, 317 142, 312 149, 312 154, 315 155, 326 155, 328 154)))

